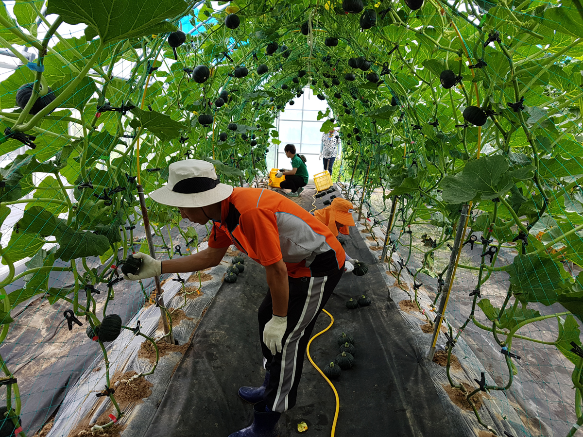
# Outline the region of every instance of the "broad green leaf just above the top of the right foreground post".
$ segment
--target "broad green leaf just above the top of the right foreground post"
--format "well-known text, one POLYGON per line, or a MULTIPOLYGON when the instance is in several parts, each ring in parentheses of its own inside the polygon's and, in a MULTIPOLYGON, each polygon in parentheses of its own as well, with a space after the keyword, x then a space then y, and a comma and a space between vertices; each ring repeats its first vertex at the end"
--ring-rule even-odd
POLYGON ((514 185, 508 172, 508 161, 501 155, 469 161, 461 174, 447 176, 441 182, 442 198, 447 203, 478 199, 494 199, 514 185))

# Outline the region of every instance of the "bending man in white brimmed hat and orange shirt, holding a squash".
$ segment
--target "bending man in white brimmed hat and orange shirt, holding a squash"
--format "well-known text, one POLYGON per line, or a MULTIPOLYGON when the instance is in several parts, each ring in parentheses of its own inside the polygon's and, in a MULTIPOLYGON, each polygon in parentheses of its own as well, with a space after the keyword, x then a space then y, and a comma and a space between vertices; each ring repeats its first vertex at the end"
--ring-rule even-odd
MULTIPOLYGON (((207 249, 158 261, 145 253, 137 274, 197 272, 216 266, 231 244, 265 267, 269 290, 259 305, 259 341, 267 370, 261 387, 241 387, 254 404, 254 422, 230 437, 276 437, 279 417, 296 404, 305 349, 318 314, 344 273, 345 253, 331 230, 276 192, 220 184, 213 165, 170 164, 168 184, 150 193, 182 218, 213 226, 207 249)), ((234 393, 233 393, 234 394, 234 393)))

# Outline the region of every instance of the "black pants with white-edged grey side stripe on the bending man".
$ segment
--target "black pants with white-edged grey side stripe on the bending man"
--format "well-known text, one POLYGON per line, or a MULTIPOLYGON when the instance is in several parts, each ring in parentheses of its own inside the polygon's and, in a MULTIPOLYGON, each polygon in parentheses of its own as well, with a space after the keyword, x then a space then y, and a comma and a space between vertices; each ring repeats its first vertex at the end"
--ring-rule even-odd
POLYGON ((322 277, 288 277, 290 294, 287 305, 287 328, 282 352, 272 355, 263 342, 265 324, 272 318, 271 292, 259 306, 259 340, 266 369, 271 372, 264 399, 272 411, 283 413, 296 404, 297 387, 304 365, 305 349, 316 319, 344 273, 342 269, 322 277))

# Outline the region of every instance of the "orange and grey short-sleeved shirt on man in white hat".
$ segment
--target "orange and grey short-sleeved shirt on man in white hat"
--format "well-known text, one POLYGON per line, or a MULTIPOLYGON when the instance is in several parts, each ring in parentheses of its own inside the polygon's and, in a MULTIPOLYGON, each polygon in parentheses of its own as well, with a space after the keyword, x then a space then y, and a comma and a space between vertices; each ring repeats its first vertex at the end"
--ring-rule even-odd
POLYGON ((279 193, 234 188, 221 202, 209 246, 234 244, 262 266, 280 259, 291 277, 326 276, 344 266, 346 255, 328 227, 279 193))

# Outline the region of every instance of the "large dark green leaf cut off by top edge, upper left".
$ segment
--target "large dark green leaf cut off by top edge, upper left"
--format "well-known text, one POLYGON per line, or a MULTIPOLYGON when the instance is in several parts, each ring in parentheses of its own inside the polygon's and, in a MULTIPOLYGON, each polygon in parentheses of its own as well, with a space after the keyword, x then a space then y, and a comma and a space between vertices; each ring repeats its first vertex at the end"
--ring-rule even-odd
POLYGON ((47 14, 57 14, 69 24, 87 24, 87 41, 99 35, 103 43, 151 34, 164 34, 176 27, 164 20, 184 13, 183 0, 50 0, 47 14))

